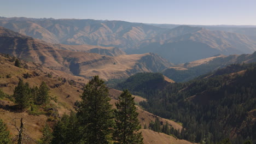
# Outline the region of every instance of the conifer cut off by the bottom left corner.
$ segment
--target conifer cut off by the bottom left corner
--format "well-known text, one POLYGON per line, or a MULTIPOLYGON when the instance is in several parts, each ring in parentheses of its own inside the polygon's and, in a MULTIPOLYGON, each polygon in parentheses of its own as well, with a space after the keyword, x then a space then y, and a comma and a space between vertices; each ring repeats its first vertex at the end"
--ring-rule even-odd
POLYGON ((10 132, 8 131, 6 124, 0 119, 0 143, 10 144, 10 132))

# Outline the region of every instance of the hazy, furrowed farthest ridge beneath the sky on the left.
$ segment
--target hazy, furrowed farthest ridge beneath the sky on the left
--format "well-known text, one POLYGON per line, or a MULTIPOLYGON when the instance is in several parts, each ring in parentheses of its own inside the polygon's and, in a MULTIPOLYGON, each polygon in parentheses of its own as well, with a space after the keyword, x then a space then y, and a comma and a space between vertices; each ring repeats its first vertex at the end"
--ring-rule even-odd
POLYGON ((165 31, 164 28, 125 21, 2 17, 0 23, 0 26, 49 43, 105 45, 122 48, 134 47, 139 41, 152 38, 155 34, 165 31))

